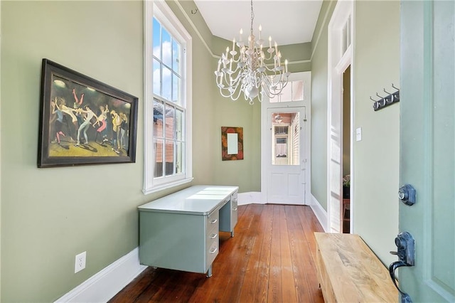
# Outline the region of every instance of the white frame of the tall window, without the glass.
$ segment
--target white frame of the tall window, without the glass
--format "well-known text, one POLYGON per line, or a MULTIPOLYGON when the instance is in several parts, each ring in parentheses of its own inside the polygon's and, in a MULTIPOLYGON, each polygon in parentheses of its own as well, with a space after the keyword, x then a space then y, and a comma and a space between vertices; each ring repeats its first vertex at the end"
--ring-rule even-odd
POLYGON ((193 180, 192 156, 192 40, 178 18, 165 1, 144 1, 144 194, 186 184, 193 180), (154 93, 153 93, 153 18, 157 18, 166 30, 182 46, 182 102, 186 108, 184 117, 185 156, 184 174, 154 178, 154 93))

